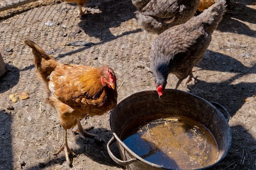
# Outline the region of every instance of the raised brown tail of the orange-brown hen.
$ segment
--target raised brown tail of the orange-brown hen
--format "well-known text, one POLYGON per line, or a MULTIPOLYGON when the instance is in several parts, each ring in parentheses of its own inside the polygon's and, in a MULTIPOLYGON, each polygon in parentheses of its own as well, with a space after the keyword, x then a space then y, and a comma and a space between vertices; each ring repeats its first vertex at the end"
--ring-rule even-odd
POLYGON ((59 65, 54 57, 48 55, 40 46, 32 40, 25 39, 24 44, 32 49, 34 64, 41 77, 46 80, 50 73, 59 65))

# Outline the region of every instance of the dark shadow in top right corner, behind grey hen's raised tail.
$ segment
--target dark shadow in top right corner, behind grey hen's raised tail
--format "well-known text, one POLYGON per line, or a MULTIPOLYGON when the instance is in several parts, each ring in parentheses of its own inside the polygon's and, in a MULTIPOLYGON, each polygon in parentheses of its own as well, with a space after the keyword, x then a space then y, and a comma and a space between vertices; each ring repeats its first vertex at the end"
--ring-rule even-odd
POLYGON ((256 37, 256 31, 250 29, 245 22, 256 24, 256 10, 246 5, 253 4, 253 1, 238 1, 232 3, 232 13, 225 13, 222 21, 216 30, 221 32, 231 32, 256 37))

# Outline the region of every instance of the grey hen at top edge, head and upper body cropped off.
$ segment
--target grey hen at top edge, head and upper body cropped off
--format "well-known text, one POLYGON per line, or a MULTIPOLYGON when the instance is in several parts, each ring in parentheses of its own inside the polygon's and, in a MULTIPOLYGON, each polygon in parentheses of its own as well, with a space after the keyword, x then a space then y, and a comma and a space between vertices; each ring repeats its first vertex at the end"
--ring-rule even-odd
POLYGON ((160 34, 193 17, 199 0, 132 0, 141 29, 160 34))

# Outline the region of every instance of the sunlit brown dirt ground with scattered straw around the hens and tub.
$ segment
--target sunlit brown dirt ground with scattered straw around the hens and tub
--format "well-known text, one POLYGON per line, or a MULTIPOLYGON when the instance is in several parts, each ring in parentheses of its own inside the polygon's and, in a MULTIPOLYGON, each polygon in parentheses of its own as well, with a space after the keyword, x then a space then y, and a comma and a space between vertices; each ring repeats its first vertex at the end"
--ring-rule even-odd
MULTIPOLYGON (((110 113, 81 121, 101 140, 68 130, 68 144, 76 153, 73 166, 65 163, 63 130, 54 108, 45 103, 43 83, 34 71, 31 49, 23 40, 34 40, 58 62, 111 66, 117 75, 118 101, 127 95, 155 89, 150 68, 150 48, 157 35, 141 31, 130 0, 88 0, 96 13, 76 18, 78 7, 61 0, 39 0, 0 12, 0 52, 8 71, 0 77, 0 169, 2 170, 121 170, 108 155, 112 137, 110 113), (45 23, 49 21, 52 26, 45 23), (91 46, 67 46, 73 41, 91 46), (12 102, 9 95, 27 92, 28 99, 12 102)), ((179 89, 209 102, 222 104, 230 113, 232 144, 213 170, 256 169, 256 1, 231 0, 212 36, 203 60, 193 69, 197 82, 179 89)), ((169 75, 166 88, 177 78, 169 75)), ((118 156, 116 145, 111 147, 118 156)))

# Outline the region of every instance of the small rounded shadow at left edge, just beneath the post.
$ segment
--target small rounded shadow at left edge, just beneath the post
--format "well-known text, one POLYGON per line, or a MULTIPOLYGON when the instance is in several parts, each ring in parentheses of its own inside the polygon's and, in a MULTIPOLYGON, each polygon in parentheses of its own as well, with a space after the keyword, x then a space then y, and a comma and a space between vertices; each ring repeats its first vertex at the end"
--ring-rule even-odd
POLYGON ((18 84, 20 79, 20 70, 7 64, 7 71, 0 77, 0 93, 8 91, 18 84))

